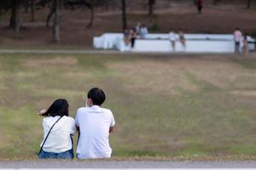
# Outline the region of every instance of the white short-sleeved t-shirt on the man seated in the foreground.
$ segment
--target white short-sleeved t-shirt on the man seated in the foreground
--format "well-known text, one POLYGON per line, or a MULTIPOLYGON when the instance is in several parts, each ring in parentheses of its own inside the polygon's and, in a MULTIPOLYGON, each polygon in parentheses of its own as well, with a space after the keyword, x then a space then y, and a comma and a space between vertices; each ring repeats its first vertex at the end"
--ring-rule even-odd
POLYGON ((109 127, 115 124, 112 111, 97 105, 82 107, 77 111, 75 122, 80 129, 79 159, 111 157, 108 136, 109 127))

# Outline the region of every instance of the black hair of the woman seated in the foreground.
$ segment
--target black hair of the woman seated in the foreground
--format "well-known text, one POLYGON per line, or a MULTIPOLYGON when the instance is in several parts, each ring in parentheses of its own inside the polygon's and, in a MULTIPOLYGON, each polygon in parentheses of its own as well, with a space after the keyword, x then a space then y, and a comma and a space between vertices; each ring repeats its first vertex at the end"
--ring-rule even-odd
POLYGON ((42 116, 68 116, 67 99, 56 99, 42 116))

